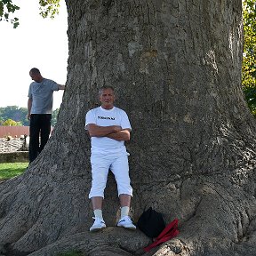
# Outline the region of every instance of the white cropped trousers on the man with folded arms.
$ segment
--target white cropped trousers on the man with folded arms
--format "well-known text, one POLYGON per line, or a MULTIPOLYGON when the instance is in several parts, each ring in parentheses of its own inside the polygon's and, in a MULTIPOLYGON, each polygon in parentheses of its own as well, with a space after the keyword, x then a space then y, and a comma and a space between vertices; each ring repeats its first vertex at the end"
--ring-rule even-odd
POLYGON ((108 179, 108 170, 115 175, 118 196, 122 194, 132 196, 130 185, 128 156, 91 156, 92 188, 89 198, 100 196, 104 198, 104 190, 108 179))

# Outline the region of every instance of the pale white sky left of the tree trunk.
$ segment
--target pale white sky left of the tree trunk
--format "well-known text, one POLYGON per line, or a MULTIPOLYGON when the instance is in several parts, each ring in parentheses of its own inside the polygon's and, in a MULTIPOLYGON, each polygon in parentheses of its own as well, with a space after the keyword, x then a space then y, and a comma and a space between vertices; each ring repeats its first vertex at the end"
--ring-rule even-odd
MULTIPOLYGON (((27 108, 31 68, 58 84, 66 84, 68 14, 64 0, 53 20, 39 15, 38 0, 14 0, 20 25, 0 21, 0 107, 27 108)), ((63 91, 53 93, 53 109, 60 108, 63 91)))

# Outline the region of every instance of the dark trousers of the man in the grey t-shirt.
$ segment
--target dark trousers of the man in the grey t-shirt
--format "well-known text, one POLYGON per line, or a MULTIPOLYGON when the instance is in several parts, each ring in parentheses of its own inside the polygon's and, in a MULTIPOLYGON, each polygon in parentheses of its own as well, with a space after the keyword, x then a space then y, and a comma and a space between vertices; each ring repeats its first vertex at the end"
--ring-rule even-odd
POLYGON ((29 127, 29 163, 43 150, 51 132, 51 114, 31 114, 29 127), (41 140, 39 140, 39 136, 41 140), (39 142, 40 141, 40 142, 39 142))

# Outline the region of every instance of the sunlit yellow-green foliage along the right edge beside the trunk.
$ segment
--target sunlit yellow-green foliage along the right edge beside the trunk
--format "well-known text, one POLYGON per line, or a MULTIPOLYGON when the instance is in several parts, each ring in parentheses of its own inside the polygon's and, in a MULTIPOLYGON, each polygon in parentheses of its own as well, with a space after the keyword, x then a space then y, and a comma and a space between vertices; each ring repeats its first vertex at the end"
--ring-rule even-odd
POLYGON ((244 59, 242 84, 248 106, 256 116, 256 2, 244 0, 244 59))

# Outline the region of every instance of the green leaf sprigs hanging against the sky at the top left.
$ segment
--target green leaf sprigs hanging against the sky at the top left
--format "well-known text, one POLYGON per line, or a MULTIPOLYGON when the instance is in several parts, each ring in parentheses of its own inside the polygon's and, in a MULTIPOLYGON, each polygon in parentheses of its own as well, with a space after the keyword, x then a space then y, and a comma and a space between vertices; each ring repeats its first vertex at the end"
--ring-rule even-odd
MULTIPOLYGON (((43 18, 50 17, 53 19, 56 14, 59 14, 60 0, 39 0, 39 11, 43 18)), ((20 7, 12 3, 12 0, 0 0, 0 21, 11 22, 13 28, 19 26, 19 19, 12 18, 12 14, 20 10, 20 7), (11 14, 11 15, 10 15, 11 14)))

